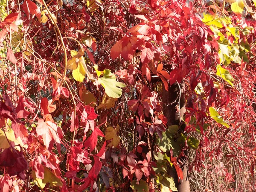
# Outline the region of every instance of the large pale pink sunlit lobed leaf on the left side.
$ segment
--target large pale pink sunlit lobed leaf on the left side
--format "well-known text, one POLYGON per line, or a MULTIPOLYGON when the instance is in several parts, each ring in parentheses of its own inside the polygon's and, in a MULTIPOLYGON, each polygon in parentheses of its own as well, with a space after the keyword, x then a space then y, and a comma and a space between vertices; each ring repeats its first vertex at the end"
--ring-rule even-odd
POLYGON ((44 145, 49 151, 52 150, 54 142, 57 145, 58 151, 60 151, 60 139, 63 137, 63 131, 55 123, 50 121, 44 122, 43 119, 39 119, 36 132, 38 136, 42 136, 44 145))

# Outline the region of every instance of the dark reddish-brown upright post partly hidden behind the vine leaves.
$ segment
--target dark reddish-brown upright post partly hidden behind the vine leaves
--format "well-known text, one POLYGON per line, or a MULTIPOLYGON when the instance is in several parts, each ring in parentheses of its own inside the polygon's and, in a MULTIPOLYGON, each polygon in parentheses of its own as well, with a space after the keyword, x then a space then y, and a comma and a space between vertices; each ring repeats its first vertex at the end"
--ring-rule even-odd
MULTIPOLYGON (((168 91, 163 88, 163 103, 165 103, 163 114, 168 119, 167 125, 180 125, 181 116, 183 116, 183 113, 185 112, 184 83, 172 84, 168 91)), ((186 153, 187 151, 185 151, 185 154, 186 153)), ((183 180, 180 180, 180 182, 178 181, 177 172, 174 167, 171 170, 170 175, 175 181, 178 192, 190 192, 189 174, 187 169, 189 162, 186 158, 180 158, 180 160, 183 162, 181 167, 183 171, 183 180)))

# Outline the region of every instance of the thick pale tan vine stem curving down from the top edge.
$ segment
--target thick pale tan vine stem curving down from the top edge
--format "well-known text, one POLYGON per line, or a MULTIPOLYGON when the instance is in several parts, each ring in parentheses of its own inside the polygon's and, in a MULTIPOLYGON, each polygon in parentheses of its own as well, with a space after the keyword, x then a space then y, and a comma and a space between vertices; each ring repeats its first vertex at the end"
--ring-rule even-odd
POLYGON ((52 13, 49 11, 48 6, 46 5, 45 1, 44 1, 44 0, 42 0, 42 1, 43 1, 44 6, 45 6, 45 9, 46 9, 47 12, 48 12, 49 17, 51 17, 52 23, 54 24, 54 26, 55 26, 56 29, 57 29, 58 36, 59 36, 59 38, 60 38, 60 40, 61 40, 62 48, 63 48, 63 50, 64 50, 64 72, 63 72, 63 78, 62 78, 61 83, 60 83, 60 86, 62 86, 62 84, 64 83, 64 78, 66 77, 66 73, 67 73, 67 51, 66 51, 66 47, 65 47, 65 44, 64 44, 62 35, 61 35, 61 31, 60 31, 60 29, 58 28, 58 25, 57 25, 56 20, 53 19, 52 13))

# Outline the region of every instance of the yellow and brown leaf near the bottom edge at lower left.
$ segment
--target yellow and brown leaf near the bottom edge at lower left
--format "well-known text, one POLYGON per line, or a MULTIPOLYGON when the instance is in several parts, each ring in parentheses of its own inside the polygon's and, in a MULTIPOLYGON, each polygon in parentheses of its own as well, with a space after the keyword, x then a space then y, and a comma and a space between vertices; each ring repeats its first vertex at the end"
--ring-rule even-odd
POLYGON ((39 186, 41 189, 44 189, 44 187, 47 183, 50 183, 51 187, 54 187, 54 186, 61 187, 63 185, 61 179, 59 177, 55 176, 55 174, 52 173, 46 167, 44 167, 44 179, 37 178, 34 170, 32 171, 32 177, 34 178, 34 181, 37 184, 37 186, 39 186))

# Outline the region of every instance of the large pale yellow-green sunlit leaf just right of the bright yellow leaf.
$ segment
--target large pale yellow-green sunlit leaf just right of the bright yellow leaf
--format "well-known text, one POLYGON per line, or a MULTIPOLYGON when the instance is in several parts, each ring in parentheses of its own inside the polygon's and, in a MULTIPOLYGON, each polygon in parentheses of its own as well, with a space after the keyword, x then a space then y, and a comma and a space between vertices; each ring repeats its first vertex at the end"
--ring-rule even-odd
POLYGON ((103 71, 103 77, 98 81, 105 88, 105 92, 109 97, 119 98, 122 95, 122 89, 119 87, 126 87, 125 84, 116 81, 116 76, 110 70, 103 71))

